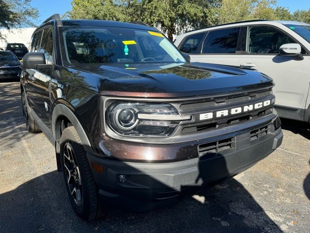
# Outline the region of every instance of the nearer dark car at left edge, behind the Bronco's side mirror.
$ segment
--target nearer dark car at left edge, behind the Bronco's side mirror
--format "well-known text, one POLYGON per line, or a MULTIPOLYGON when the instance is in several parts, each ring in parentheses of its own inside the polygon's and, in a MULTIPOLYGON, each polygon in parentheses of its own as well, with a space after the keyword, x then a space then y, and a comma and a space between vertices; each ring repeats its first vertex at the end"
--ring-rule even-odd
POLYGON ((0 51, 0 80, 19 79, 20 62, 11 51, 0 51))

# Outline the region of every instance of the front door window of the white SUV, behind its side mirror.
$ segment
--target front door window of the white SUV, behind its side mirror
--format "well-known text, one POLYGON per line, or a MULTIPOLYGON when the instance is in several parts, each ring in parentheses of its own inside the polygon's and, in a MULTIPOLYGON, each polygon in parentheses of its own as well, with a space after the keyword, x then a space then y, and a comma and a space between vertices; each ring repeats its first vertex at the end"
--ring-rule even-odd
POLYGON ((248 29, 248 52, 256 54, 279 53, 281 45, 295 43, 290 37, 271 27, 248 29))

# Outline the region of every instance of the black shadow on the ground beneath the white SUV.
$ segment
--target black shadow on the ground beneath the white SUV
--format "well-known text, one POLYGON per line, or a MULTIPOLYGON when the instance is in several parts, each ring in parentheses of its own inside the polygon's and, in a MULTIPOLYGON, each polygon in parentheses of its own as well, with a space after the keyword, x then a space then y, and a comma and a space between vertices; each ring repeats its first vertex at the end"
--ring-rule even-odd
POLYGON ((304 138, 310 139, 310 124, 307 122, 281 118, 282 129, 299 134, 304 138))

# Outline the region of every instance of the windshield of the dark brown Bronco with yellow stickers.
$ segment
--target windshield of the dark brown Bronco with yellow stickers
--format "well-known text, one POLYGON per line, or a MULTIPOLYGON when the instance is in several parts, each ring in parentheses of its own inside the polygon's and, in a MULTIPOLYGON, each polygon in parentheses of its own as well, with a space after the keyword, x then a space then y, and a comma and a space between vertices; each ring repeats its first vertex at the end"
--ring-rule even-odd
POLYGON ((183 55, 161 33, 115 27, 64 28, 64 65, 184 63, 183 55))

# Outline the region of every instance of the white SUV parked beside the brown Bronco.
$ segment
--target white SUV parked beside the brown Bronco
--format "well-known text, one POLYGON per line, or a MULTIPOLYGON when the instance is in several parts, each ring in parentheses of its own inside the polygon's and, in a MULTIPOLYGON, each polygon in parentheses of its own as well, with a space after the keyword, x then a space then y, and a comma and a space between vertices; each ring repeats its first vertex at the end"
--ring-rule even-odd
POLYGON ((252 67, 276 86, 279 116, 310 122, 310 25, 252 20, 190 31, 174 44, 191 62, 252 67))

